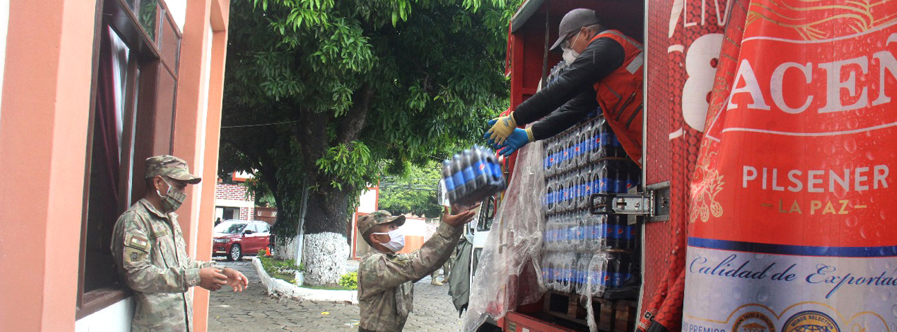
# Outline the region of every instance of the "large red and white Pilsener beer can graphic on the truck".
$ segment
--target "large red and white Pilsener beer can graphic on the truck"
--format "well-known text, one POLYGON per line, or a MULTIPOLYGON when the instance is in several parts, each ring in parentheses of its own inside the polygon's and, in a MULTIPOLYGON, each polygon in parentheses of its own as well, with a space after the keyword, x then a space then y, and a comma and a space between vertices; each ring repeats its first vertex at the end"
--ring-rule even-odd
POLYGON ((897 331, 897 2, 733 1, 683 331, 897 331))

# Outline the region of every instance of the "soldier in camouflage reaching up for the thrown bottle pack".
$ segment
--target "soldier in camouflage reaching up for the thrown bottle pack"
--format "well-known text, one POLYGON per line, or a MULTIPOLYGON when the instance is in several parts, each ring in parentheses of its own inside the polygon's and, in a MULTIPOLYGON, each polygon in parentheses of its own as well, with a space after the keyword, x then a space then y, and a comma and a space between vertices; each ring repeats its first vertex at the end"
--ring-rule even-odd
POLYGON ((473 211, 442 215, 439 230, 421 249, 396 254, 405 246, 398 227, 405 216, 377 211, 358 220, 358 232, 373 250, 358 266, 358 302, 361 309, 360 332, 398 332, 412 310, 414 282, 429 275, 455 251, 462 226, 474 217, 473 211))

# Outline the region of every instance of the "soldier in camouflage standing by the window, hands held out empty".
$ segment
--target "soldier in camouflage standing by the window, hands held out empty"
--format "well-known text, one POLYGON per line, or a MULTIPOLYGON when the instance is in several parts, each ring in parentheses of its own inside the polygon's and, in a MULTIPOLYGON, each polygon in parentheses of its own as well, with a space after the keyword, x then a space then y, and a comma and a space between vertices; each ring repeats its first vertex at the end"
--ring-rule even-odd
POLYGON ((135 294, 134 332, 189 332, 193 329, 190 287, 215 291, 227 284, 234 292, 242 292, 248 285, 237 270, 187 257, 174 211, 187 197, 187 184, 200 180, 177 157, 151 157, 146 160, 144 198, 118 217, 111 249, 119 275, 135 294))

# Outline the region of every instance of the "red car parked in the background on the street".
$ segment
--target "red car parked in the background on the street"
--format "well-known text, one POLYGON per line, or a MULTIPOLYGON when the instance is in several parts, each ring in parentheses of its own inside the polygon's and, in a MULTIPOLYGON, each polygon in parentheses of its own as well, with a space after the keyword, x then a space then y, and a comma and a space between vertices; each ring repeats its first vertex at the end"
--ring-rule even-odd
POLYGON ((212 256, 239 260, 244 255, 257 255, 271 244, 271 225, 259 221, 228 220, 214 228, 212 256))

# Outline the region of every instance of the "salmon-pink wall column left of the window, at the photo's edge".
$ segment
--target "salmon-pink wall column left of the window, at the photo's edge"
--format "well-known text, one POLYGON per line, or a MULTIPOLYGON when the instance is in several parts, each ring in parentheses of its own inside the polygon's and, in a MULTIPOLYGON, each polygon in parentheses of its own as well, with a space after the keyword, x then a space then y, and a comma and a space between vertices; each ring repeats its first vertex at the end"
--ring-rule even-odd
POLYGON ((0 293, 3 331, 74 329, 95 10, 91 0, 9 6, 5 61, 13 66, 5 66, 0 101, 0 162, 10 175, 0 185, 0 279, 10 285, 0 293))

